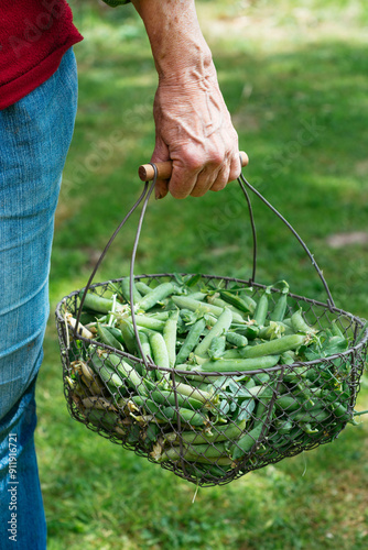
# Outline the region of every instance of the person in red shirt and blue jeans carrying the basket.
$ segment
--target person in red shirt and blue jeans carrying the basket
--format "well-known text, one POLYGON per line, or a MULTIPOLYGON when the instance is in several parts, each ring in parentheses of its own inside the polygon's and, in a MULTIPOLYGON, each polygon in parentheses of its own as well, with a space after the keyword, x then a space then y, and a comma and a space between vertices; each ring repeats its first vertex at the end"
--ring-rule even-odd
MULTIPOLYGON (((126 0, 105 0, 111 7, 126 0)), ((159 84, 152 162, 173 162, 158 198, 202 197, 240 173, 237 133, 194 0, 132 0, 159 84)), ((77 108, 73 46, 83 37, 65 0, 0 3, 0 490, 1 548, 43 550, 46 522, 34 389, 48 316, 54 212, 77 108), (57 131, 55 131, 57 129, 57 131), (17 544, 15 544, 17 542, 17 544)))

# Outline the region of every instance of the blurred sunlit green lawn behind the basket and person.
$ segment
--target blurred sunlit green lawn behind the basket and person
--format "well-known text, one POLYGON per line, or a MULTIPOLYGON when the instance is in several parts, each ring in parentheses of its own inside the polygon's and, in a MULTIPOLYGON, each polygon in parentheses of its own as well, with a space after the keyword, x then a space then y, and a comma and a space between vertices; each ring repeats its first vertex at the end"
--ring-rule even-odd
MULTIPOLYGON (((108 238, 137 199, 139 164, 154 144, 156 76, 131 7, 71 2, 85 41, 75 47, 79 110, 57 209, 52 310, 86 284, 108 238)), ((332 249, 335 233, 367 231, 368 58, 362 1, 202 1, 220 86, 250 156, 246 176, 295 226, 336 305, 368 317, 368 244, 332 249)), ((323 286, 286 228, 256 198, 258 280, 296 294, 323 286)), ((128 273, 137 217, 96 280, 128 273)), ((246 202, 221 194, 149 206, 136 273, 249 277, 246 202), (167 238, 170 235, 170 238, 167 238)), ((364 381, 358 407, 368 408, 364 381)), ((367 426, 224 487, 199 490, 73 421, 63 397, 54 320, 40 373, 36 444, 51 550, 364 550, 368 542, 367 426)))

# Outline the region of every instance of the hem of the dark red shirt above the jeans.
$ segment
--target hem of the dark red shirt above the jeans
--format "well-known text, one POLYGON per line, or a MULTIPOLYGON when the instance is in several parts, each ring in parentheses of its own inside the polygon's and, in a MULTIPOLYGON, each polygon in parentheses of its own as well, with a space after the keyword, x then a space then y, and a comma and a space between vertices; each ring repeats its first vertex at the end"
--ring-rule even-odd
POLYGON ((65 0, 0 0, 0 109, 47 80, 82 40, 65 0))

